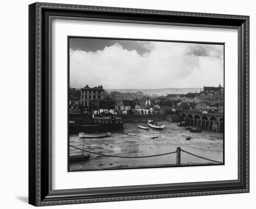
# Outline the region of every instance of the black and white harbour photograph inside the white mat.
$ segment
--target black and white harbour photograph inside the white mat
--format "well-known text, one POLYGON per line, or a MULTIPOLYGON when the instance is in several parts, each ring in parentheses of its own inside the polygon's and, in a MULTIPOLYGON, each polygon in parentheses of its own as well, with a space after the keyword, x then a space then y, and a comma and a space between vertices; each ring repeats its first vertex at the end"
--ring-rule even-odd
POLYGON ((224 44, 68 37, 69 171, 224 164, 224 44))

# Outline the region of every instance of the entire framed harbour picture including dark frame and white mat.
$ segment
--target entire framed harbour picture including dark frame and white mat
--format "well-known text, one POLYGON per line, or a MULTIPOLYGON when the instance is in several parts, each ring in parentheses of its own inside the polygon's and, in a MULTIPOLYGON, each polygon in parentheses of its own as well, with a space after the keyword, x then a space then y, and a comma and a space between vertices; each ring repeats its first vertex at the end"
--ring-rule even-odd
POLYGON ((29 5, 29 203, 249 192, 249 16, 29 5))

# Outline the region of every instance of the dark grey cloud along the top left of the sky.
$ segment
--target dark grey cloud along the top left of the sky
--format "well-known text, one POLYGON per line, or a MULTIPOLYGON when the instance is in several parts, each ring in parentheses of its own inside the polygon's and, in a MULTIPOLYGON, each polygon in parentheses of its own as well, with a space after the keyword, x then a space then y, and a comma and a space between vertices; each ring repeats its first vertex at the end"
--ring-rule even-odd
POLYGON ((84 52, 96 52, 103 50, 105 47, 113 46, 115 44, 121 45, 128 51, 135 50, 142 55, 145 52, 150 52, 152 47, 148 41, 135 40, 118 40, 118 39, 90 39, 90 38, 70 38, 69 47, 72 50, 81 50, 84 52))

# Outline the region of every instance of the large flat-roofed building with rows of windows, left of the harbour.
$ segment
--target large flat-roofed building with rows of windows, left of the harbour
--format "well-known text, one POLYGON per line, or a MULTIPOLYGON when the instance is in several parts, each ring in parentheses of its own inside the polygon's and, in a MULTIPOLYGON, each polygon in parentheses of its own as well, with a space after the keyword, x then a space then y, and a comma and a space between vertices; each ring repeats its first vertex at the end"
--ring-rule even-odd
POLYGON ((86 85, 84 88, 81 88, 81 106, 89 107, 92 100, 103 100, 104 99, 104 89, 102 85, 98 87, 90 88, 86 85))

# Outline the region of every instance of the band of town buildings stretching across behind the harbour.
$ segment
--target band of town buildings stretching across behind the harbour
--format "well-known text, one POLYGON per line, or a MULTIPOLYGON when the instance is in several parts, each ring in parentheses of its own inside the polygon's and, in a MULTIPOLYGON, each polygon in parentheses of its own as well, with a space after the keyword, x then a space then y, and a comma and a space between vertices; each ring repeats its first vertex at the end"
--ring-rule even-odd
MULTIPOLYGON (((89 87, 86 85, 80 89, 80 101, 71 101, 70 106, 80 108, 84 113, 93 111, 111 111, 120 114, 139 113, 141 108, 153 108, 154 112, 164 112, 170 109, 194 109, 198 111, 223 112, 223 104, 202 101, 205 97, 221 96, 224 89, 221 85, 218 87, 204 86, 203 91, 189 92, 187 94, 168 94, 155 99, 116 99, 106 98, 102 85, 98 87, 89 87)), ((208 98, 207 98, 208 99, 208 98)))

